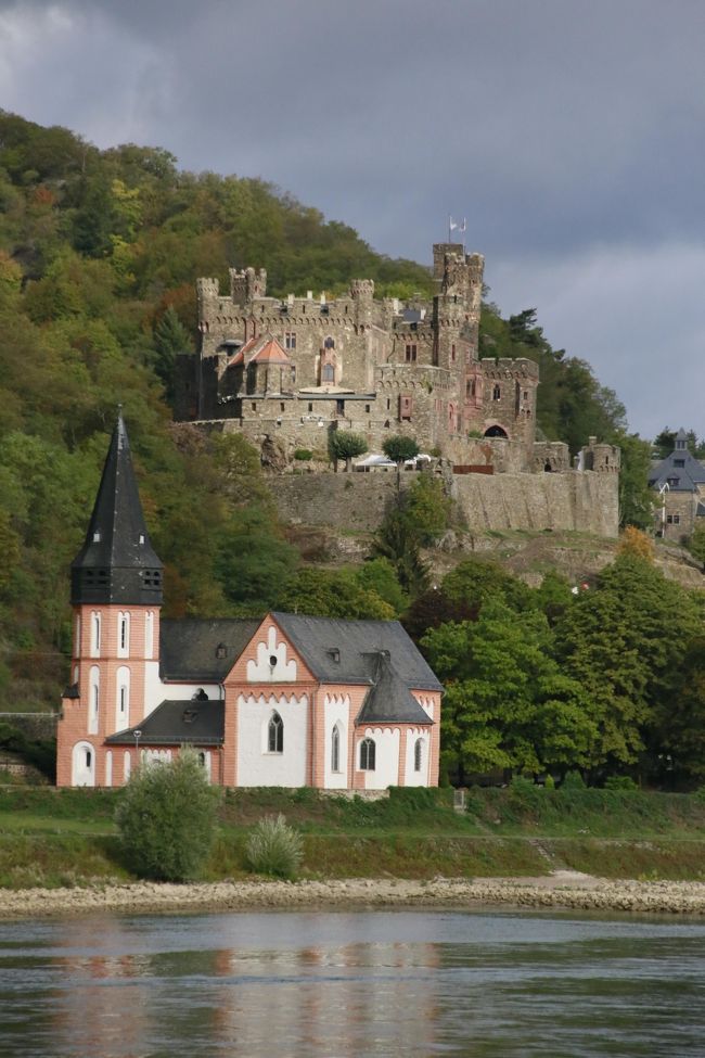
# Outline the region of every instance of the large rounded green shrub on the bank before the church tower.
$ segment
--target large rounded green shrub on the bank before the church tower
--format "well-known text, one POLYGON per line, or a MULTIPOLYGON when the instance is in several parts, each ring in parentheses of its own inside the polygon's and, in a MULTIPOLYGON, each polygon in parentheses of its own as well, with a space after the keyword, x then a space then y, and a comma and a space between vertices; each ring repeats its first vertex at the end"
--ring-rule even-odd
POLYGON ((196 878, 210 852, 219 800, 193 751, 139 767, 115 815, 130 867, 158 881, 196 878))

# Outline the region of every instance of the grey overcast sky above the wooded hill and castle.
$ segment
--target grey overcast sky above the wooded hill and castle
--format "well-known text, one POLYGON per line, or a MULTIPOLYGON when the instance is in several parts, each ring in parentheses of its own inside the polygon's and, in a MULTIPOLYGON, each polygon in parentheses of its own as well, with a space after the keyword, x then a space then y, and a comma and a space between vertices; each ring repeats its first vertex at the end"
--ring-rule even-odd
POLYGON ((260 176, 393 257, 466 217, 502 314, 642 436, 705 434, 704 56, 703 0, 0 0, 5 110, 260 176))

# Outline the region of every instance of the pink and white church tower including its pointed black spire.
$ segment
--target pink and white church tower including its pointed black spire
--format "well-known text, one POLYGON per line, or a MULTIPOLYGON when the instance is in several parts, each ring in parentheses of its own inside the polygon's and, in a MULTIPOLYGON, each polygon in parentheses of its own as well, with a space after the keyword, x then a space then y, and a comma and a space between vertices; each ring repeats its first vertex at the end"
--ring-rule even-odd
POLYGON ((57 786, 113 786, 126 775, 104 739, 144 716, 158 678, 162 562, 151 543, 118 416, 86 540, 72 563, 72 686, 57 727, 57 786))

